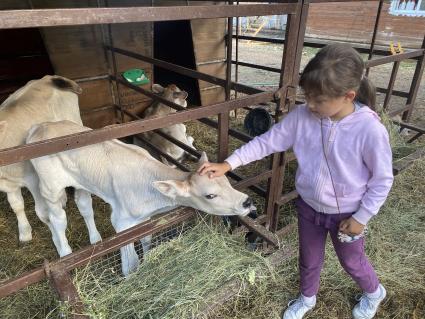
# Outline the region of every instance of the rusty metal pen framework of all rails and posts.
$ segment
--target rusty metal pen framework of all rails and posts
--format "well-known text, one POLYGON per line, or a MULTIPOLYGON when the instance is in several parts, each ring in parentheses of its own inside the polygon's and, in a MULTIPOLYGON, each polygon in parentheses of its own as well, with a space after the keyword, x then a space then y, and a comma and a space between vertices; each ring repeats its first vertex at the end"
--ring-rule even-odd
MULTIPOLYGON (((202 79, 211 83, 215 83, 225 88, 226 101, 222 103, 216 103, 204 107, 195 107, 190 109, 181 110, 170 114, 166 117, 151 118, 151 119, 140 119, 131 112, 125 110, 120 105, 119 101, 114 101, 112 107, 116 107, 121 111, 121 124, 112 125, 98 130, 92 130, 88 132, 82 132, 78 134, 58 137, 51 140, 41 141, 28 145, 18 146, 9 149, 0 150, 0 165, 9 165, 23 160, 28 160, 34 157, 39 157, 47 154, 56 153, 59 151, 74 149, 90 144, 95 144, 110 140, 112 138, 120 138, 129 135, 136 135, 146 131, 156 130, 158 134, 161 134, 159 128, 177 124, 189 120, 199 120, 204 124, 215 127, 219 131, 219 156, 220 160, 224 159, 227 155, 227 142, 229 135, 233 135, 241 140, 248 141, 251 139, 243 132, 236 131, 229 127, 229 116, 230 110, 236 110, 238 108, 246 108, 252 104, 265 103, 269 101, 277 102, 276 116, 275 119, 279 119, 279 115, 282 110, 291 108, 295 103, 295 89, 299 76, 301 50, 304 45, 304 33, 307 21, 308 7, 310 3, 320 2, 349 2, 355 0, 275 0, 267 1, 272 4, 239 4, 236 5, 217 5, 217 6, 175 6, 175 7, 133 7, 133 8, 86 8, 86 9, 42 9, 42 10, 6 10, 0 11, 0 29, 7 28, 27 28, 27 27, 48 27, 48 26, 65 26, 65 25, 81 25, 81 24, 113 24, 113 23, 129 23, 129 22, 149 22, 149 21, 169 21, 169 20, 186 20, 196 18, 228 18, 228 35, 227 35, 227 71, 226 79, 220 79, 207 74, 203 74, 194 70, 183 68, 181 66, 173 65, 165 61, 158 59, 152 59, 144 57, 140 54, 129 52, 123 49, 115 48, 112 41, 109 41, 108 45, 105 46, 105 52, 111 53, 112 60, 115 59, 115 54, 123 54, 133 58, 137 58, 156 66, 171 69, 183 75, 191 76, 197 79, 202 79), (286 29, 285 39, 288 43, 294 44, 291 46, 285 45, 282 56, 282 68, 279 70, 281 77, 279 83, 279 89, 273 92, 263 92, 256 88, 252 88, 246 85, 234 83, 231 81, 231 64, 242 65, 241 62, 232 61, 232 39, 233 39, 233 19, 231 17, 240 17, 248 15, 269 15, 276 13, 286 13, 289 15, 288 24, 286 29), (244 92, 249 94, 235 100, 230 100, 230 90, 236 92, 244 92), (117 104, 118 102, 118 104, 117 104), (211 115, 219 114, 219 121, 215 122, 206 117, 211 115), (123 123, 124 115, 129 116, 134 121, 123 123)), ((364 1, 378 1, 378 0, 364 0, 364 1)), ((379 0, 382 3, 382 0, 379 0)), ((254 1, 246 1, 254 2, 254 1)), ((255 1, 261 2, 261 1, 255 1)), ((266 2, 266 1, 264 1, 266 2)), ((100 3, 100 2, 99 2, 100 3)), ((382 53, 379 50, 374 49, 374 38, 376 29, 378 27, 378 17, 375 23, 374 37, 372 39, 371 48, 369 49, 370 56, 373 53, 382 53)), ((109 25, 110 28, 110 25, 109 25)), ((243 39, 244 36, 236 35, 237 39, 243 39)), ((111 39, 109 29, 109 39, 111 39)), ((258 40, 256 38, 255 40, 258 40)), ((272 40, 268 41, 272 42, 272 40)), ((283 43, 284 41, 282 41, 283 43)), ((408 98, 407 105, 402 109, 404 117, 409 118, 412 112, 416 94, 418 91, 420 76, 424 70, 424 52, 425 52, 425 39, 421 50, 414 52, 408 52, 393 57, 383 57, 373 59, 367 62, 368 68, 384 64, 384 63, 395 63, 393 72, 388 88, 382 89, 387 92, 389 97, 386 98, 386 105, 389 103, 389 99, 392 95, 398 95, 408 98), (415 70, 414 80, 409 93, 399 92, 393 90, 394 81, 400 61, 404 59, 417 59, 418 64, 415 70)), ((251 66, 251 65, 246 65, 251 66)), ((252 65, 254 67, 255 66, 252 65)), ((264 67, 263 67, 264 69, 264 67)), ((118 85, 129 86, 142 94, 151 97, 153 100, 161 101, 171 107, 176 108, 174 103, 166 100, 161 100, 160 97, 155 94, 143 90, 139 87, 132 86, 127 82, 123 81, 117 74, 116 65, 114 65, 113 75, 109 75, 111 83, 118 85), (171 105, 170 105, 171 103, 171 105)), ((274 70, 269 68, 268 71, 277 72, 278 69, 274 70)), ((93 79, 80 79, 80 81, 90 81, 93 79)), ((387 95, 387 96, 388 96, 387 95)), ((404 127, 408 127, 408 124, 401 123, 404 127), (407 125, 407 126, 406 126, 407 125)), ((418 134, 424 134, 425 131, 418 131, 418 134)), ((173 137, 166 134, 161 135, 164 138, 179 145, 178 141, 173 137)), ((179 145, 191 154, 199 156, 199 153, 185 145, 179 145)), ((167 158, 172 161, 173 159, 167 158)), ((266 211, 265 215, 260 217, 257 221, 253 221, 249 218, 241 218, 241 222, 244 226, 254 231, 261 237, 263 237, 268 243, 277 246, 276 234, 281 236, 286 234, 293 225, 286 226, 280 230, 277 230, 277 218, 279 213, 280 205, 287 203, 297 196, 296 191, 292 191, 287 194, 282 194, 283 186, 283 169, 289 160, 289 156, 286 153, 274 154, 272 156, 270 169, 266 170, 256 176, 248 177, 243 179, 242 177, 230 173, 229 177, 236 179, 238 182, 234 184, 237 189, 250 187, 261 195, 266 197, 266 211), (268 180, 267 191, 258 187, 256 184, 261 180, 268 180), (266 228, 262 226, 266 224, 266 228), (272 232, 276 232, 273 234, 272 232)), ((172 161, 173 162, 173 161, 172 161)), ((177 163, 175 163, 177 165, 177 163)), ((179 167, 183 170, 187 170, 184 165, 179 164, 179 167)), ((19 289, 27 287, 32 283, 39 282, 45 278, 50 278, 54 287, 58 289, 61 299, 70 300, 74 309, 81 309, 80 301, 78 299, 78 293, 76 293, 75 287, 70 282, 69 271, 86 265, 92 260, 99 258, 109 252, 117 250, 119 247, 124 246, 136 239, 158 232, 171 225, 186 221, 193 218, 194 210, 186 208, 178 213, 167 217, 156 217, 151 221, 140 224, 133 228, 130 228, 124 232, 121 232, 112 238, 103 241, 100 244, 87 247, 79 252, 73 253, 69 256, 61 258, 58 261, 52 263, 46 263, 45 266, 30 271, 22 275, 18 279, 9 280, 0 285, 0 298, 6 295, 10 295, 19 289), (166 223, 160 222, 160 218, 165 218, 166 223)))

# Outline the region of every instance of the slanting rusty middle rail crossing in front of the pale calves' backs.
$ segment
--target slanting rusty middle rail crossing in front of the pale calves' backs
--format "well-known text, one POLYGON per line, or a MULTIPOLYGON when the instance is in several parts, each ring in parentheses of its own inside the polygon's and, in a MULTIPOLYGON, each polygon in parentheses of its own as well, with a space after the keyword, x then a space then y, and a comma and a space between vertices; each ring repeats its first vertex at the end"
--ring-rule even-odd
POLYGON ((231 100, 176 112, 165 117, 138 120, 119 125, 110 125, 97 130, 90 130, 36 143, 7 148, 0 150, 0 166, 44 156, 47 154, 79 148, 90 144, 96 144, 114 138, 135 135, 137 133, 151 131, 153 129, 177 123, 216 115, 223 111, 229 111, 247 105, 268 102, 273 99, 274 92, 263 92, 244 96, 237 100, 231 100))

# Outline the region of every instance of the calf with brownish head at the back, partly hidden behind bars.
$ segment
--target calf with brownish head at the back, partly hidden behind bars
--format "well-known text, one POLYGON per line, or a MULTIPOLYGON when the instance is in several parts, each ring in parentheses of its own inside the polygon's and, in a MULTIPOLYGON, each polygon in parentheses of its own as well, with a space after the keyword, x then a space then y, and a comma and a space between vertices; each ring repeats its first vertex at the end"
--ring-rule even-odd
MULTIPOLYGON (((152 91, 158 94, 168 101, 174 102, 182 107, 187 106, 186 98, 187 92, 181 91, 176 85, 171 84, 166 88, 162 87, 159 84, 154 84, 152 86, 152 91)), ((165 116, 170 113, 174 113, 176 110, 171 107, 162 104, 162 103, 154 103, 152 106, 148 107, 142 114, 143 118, 154 117, 154 116, 165 116)), ((186 133, 186 125, 184 124, 174 124, 168 127, 164 127, 159 129, 163 133, 166 133, 180 142, 194 148, 193 146, 193 137, 188 136, 186 133)), ((163 138, 162 136, 154 133, 154 132, 146 132, 142 134, 144 138, 146 138, 150 143, 158 147, 162 152, 170 155, 172 158, 181 162, 188 153, 185 152, 182 148, 170 142, 169 140, 163 138)), ((140 144, 137 139, 134 140, 134 143, 139 146, 144 146, 140 144)), ((160 157, 161 161, 165 164, 169 164, 168 161, 164 157, 160 157)), ((172 166, 172 165, 171 165, 172 166)))

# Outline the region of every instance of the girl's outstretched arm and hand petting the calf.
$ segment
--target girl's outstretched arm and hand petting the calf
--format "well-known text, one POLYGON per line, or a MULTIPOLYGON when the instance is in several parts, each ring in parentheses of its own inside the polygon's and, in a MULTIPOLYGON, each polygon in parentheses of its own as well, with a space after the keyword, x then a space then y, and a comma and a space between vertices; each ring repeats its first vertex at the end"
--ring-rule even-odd
POLYGON ((282 121, 266 133, 252 139, 233 152, 223 163, 204 163, 198 172, 209 177, 218 177, 238 166, 262 159, 276 152, 283 152, 294 144, 298 121, 298 107, 288 113, 282 121))

